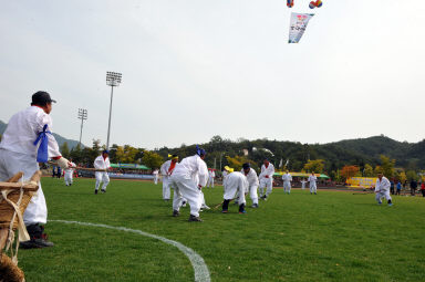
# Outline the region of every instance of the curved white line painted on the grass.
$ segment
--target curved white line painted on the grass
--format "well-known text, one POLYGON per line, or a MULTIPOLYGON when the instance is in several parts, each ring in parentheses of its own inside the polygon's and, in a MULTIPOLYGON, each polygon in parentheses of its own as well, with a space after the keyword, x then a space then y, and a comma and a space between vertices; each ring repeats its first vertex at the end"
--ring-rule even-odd
POLYGON ((190 260, 191 265, 194 267, 195 281, 196 282, 210 282, 211 281, 211 279, 209 276, 208 267, 207 267, 207 264, 205 264, 204 259, 198 253, 196 253, 194 250, 191 250, 190 248, 188 248, 188 247, 186 247, 183 243, 179 243, 177 241, 173 241, 173 240, 169 240, 167 238, 156 236, 156 234, 151 234, 151 233, 144 232, 142 230, 129 229, 129 228, 125 228, 125 227, 112 227, 112 226, 106 226, 106 224, 80 222, 80 221, 69 221, 69 220, 49 220, 49 221, 50 222, 62 222, 62 223, 68 223, 68 224, 80 224, 80 226, 86 226, 86 227, 102 227, 102 228, 114 229, 114 230, 136 233, 136 234, 157 239, 159 241, 163 241, 164 243, 176 247, 184 254, 186 254, 186 257, 190 260))

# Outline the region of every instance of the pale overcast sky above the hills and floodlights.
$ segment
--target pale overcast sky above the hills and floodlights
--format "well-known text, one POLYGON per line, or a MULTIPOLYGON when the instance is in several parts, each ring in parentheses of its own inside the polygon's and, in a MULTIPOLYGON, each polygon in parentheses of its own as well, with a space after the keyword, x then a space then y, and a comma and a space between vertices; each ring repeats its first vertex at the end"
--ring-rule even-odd
POLYGON ((423 0, 20 0, 0 9, 0 119, 45 90, 53 132, 174 147, 224 138, 425 137, 423 0), (315 15, 288 44, 290 12, 315 15))

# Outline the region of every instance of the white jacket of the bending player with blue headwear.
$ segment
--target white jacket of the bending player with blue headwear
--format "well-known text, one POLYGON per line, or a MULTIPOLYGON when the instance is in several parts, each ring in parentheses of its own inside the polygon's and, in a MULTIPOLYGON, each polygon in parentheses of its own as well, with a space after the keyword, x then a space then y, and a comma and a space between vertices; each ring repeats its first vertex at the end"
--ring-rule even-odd
POLYGON ((173 176, 183 176, 186 179, 193 179, 196 182, 196 177, 199 178, 199 185, 205 187, 208 180, 207 164, 198 156, 184 158, 176 164, 173 176))

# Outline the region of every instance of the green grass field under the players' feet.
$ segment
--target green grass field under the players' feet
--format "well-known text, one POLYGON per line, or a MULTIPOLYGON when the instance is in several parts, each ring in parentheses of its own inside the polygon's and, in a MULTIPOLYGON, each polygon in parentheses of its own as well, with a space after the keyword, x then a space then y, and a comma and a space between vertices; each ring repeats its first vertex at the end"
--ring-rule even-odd
MULTIPOLYGON (((274 189, 260 208, 239 215, 189 208, 172 217, 162 185, 112 180, 94 195, 94 179, 42 179, 50 220, 75 220, 143 230, 178 241, 200 254, 211 281, 425 281, 425 198, 274 189)), ((204 189, 207 205, 222 187, 204 189)), ((248 205, 250 205, 248 199, 248 205)), ((156 239, 96 227, 49 222, 55 247, 20 250, 27 281, 193 281, 177 248, 156 239)))

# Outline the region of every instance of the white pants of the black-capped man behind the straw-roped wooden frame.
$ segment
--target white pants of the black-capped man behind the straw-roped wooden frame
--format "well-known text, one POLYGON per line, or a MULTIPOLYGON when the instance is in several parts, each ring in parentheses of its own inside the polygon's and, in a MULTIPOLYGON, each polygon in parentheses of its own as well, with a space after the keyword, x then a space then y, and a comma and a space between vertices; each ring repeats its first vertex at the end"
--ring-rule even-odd
MULTIPOLYGON (((31 176, 39 170, 39 164, 34 156, 0 149, 0 180, 7 181, 9 178, 23 173, 23 180, 29 180, 31 176)), ((32 196, 25 212, 23 221, 25 226, 48 222, 48 206, 45 205, 44 194, 39 184, 39 190, 32 196)))

